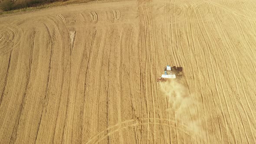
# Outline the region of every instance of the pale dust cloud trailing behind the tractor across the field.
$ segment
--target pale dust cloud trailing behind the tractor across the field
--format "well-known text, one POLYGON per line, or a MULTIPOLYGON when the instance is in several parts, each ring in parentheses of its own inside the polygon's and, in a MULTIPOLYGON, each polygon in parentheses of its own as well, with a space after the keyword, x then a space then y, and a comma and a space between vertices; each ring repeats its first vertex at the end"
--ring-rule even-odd
POLYGON ((170 80, 160 83, 161 90, 166 94, 172 111, 175 114, 177 127, 179 124, 186 126, 191 137, 199 138, 200 141, 207 141, 206 131, 202 128, 203 121, 206 120, 202 103, 197 101, 193 94, 177 80, 170 80))

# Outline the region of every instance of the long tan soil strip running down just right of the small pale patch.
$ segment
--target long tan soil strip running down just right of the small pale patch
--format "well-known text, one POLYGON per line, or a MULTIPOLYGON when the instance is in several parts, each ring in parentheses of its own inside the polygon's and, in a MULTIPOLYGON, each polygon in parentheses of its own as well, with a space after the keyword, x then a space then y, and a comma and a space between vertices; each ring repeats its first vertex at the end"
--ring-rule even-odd
MULTIPOLYGON (((77 31, 77 39, 74 42, 71 62, 71 95, 66 122, 64 143, 82 143, 84 127, 84 104, 88 98, 87 87, 89 69, 92 62, 92 52, 95 49, 96 29, 84 29, 77 31), (83 39, 87 39, 83 41, 83 39), (88 77, 86 77, 88 75, 88 77)), ((89 100, 87 100, 89 101, 89 100)))

